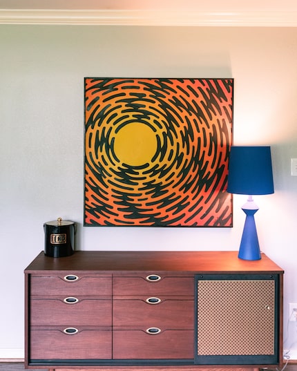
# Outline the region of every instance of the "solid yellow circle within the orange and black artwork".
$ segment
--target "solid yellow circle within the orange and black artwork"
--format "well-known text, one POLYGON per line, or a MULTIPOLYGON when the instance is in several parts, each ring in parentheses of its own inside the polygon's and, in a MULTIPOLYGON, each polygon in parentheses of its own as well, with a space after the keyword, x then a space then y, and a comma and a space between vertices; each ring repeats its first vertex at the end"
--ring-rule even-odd
POLYGON ((146 124, 126 124, 115 135, 114 149, 119 161, 141 166, 153 158, 157 151, 157 138, 146 124))

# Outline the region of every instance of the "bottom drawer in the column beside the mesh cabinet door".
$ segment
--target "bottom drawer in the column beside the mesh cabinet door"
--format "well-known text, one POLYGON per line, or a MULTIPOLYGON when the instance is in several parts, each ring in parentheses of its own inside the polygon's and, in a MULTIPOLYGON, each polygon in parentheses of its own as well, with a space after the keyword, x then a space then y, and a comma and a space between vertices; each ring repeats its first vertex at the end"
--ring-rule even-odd
POLYGON ((193 330, 114 330, 113 359, 193 359, 193 330))

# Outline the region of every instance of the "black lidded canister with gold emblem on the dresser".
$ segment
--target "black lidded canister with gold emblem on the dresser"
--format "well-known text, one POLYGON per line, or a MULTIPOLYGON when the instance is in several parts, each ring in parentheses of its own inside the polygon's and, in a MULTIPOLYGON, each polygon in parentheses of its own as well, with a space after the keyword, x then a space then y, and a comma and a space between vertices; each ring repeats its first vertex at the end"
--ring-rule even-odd
POLYGON ((69 256, 74 252, 75 223, 57 218, 44 223, 44 254, 53 258, 69 256))

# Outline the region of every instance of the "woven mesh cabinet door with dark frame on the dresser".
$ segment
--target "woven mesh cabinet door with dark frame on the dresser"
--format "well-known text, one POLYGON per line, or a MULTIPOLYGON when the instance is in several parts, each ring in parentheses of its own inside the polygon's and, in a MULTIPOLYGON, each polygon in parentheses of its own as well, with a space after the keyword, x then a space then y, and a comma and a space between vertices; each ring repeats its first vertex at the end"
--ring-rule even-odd
POLYGON ((195 283, 196 363, 279 362, 277 274, 203 274, 195 283))

